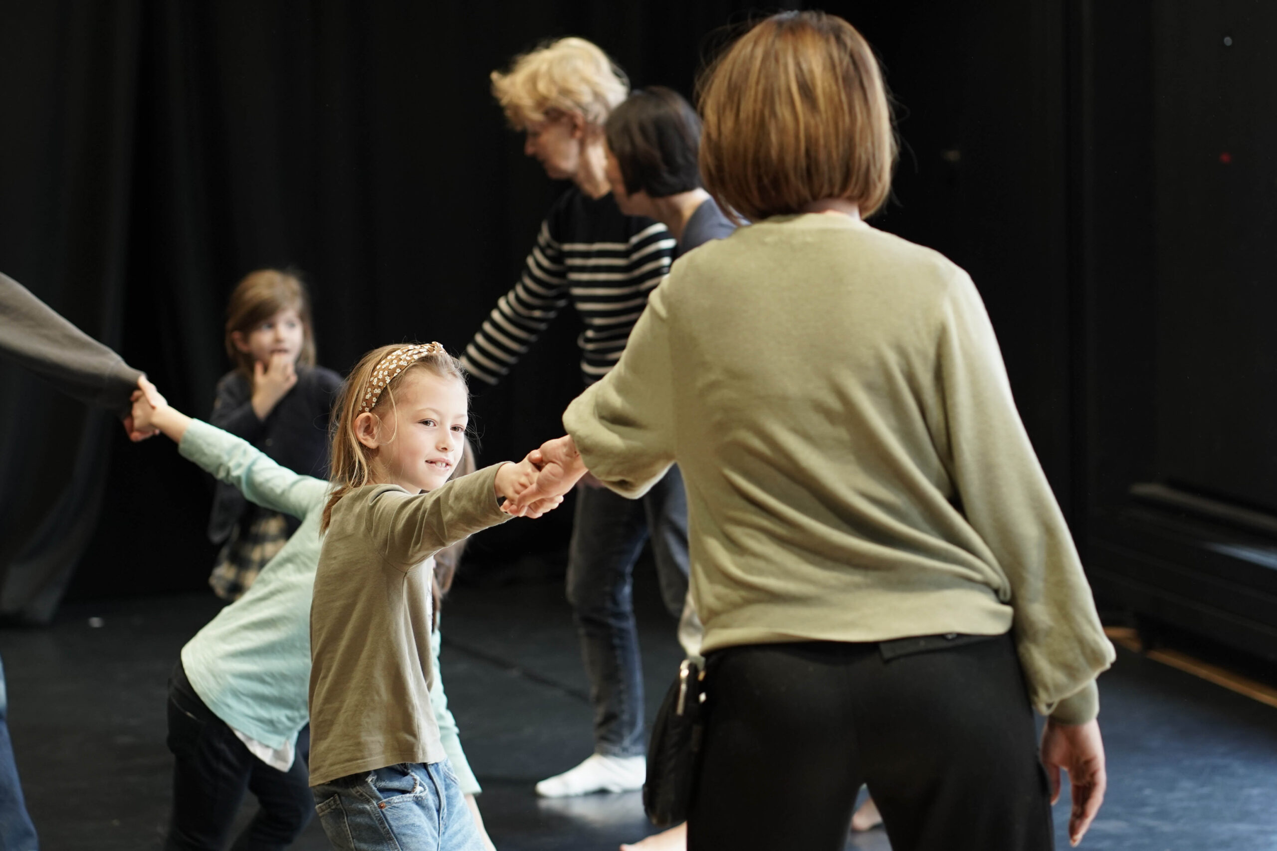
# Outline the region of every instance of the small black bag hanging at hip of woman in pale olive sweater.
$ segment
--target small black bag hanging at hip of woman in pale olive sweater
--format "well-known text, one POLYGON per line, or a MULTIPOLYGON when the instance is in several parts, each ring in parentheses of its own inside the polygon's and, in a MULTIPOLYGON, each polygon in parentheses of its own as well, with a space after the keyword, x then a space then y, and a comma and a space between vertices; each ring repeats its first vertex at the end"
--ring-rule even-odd
POLYGON ((705 671, 691 660, 678 666, 656 713, 647 745, 642 808, 656 827, 687 820, 705 739, 705 671))

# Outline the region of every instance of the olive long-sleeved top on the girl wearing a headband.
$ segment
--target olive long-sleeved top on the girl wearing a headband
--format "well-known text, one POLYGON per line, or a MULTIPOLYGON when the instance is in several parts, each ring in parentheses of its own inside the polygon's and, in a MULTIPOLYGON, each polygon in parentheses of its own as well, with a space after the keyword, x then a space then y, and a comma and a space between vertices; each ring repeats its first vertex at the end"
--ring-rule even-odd
POLYGON ((312 786, 448 755, 430 697, 432 556, 510 519, 499 467, 427 494, 365 485, 333 505, 310 603, 312 786))

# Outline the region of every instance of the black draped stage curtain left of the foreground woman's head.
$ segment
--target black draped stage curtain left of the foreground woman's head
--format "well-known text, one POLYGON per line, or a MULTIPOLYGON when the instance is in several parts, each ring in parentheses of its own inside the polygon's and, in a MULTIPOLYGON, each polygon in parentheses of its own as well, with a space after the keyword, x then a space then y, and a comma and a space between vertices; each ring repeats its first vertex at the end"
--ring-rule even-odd
MULTIPOLYGON (((521 153, 488 73, 582 34, 690 93, 705 37, 748 3, 0 4, 0 268, 206 416, 222 310, 264 265, 305 272, 321 362, 458 351, 562 190, 521 153)), ((580 390, 564 314, 503 385, 476 387, 483 457, 558 430, 580 390)), ((209 482, 162 439, 0 373, 0 612, 200 587, 209 482), (101 496, 109 494, 98 512, 101 496)), ((488 536, 562 547, 559 512, 488 536)), ((480 547, 481 549, 481 547, 480 547)))

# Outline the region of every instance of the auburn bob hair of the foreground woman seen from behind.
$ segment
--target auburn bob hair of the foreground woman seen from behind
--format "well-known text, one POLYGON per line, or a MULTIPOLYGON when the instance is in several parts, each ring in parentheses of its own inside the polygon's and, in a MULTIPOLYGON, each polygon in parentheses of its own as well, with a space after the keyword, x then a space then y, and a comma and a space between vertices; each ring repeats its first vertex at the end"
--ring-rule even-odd
POLYGON ((759 221, 825 198, 870 216, 891 190, 895 134, 877 59, 824 11, 787 11, 733 43, 697 85, 701 177, 719 205, 759 221))

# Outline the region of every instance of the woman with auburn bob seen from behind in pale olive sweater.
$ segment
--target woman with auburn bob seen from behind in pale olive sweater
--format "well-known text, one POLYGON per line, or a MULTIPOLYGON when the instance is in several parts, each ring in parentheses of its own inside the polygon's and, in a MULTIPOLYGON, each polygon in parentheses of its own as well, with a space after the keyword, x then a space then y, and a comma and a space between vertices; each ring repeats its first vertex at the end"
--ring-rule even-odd
POLYGON ((705 188, 753 223, 674 264, 516 499, 683 471, 707 694, 688 847, 842 848, 865 782, 895 851, 1046 850, 1061 768, 1077 843, 1114 649, 976 286, 861 218, 895 151, 870 46, 779 14, 700 102, 705 188))

